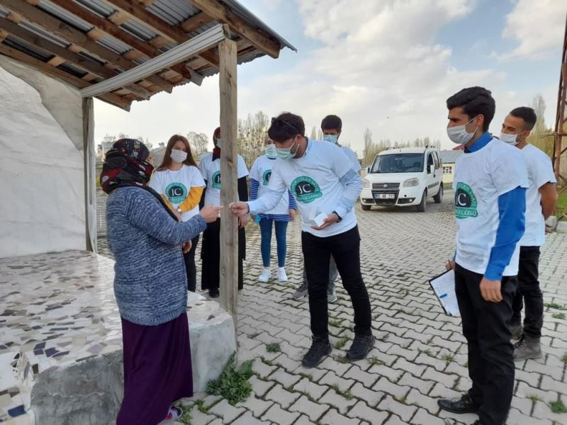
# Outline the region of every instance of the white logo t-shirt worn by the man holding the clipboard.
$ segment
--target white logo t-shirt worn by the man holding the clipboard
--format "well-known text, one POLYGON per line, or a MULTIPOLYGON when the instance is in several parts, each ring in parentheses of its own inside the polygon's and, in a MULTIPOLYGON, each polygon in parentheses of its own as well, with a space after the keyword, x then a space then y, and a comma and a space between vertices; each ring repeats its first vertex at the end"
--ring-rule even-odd
MULTIPOLYGON (((460 266, 484 274, 500 223, 498 197, 518 186, 528 187, 527 165, 520 149, 492 139, 476 152, 457 158, 455 191, 456 256, 460 266)), ((516 276, 517 244, 503 276, 516 276)))

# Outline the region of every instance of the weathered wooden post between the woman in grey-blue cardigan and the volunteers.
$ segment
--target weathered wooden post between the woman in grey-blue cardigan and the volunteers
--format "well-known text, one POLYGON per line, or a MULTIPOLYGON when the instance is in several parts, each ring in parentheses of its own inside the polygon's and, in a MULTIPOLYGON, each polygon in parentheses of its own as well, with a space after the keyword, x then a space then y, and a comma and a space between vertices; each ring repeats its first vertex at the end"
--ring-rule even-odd
MULTIPOLYGON (((238 199, 237 191, 237 104, 236 42, 225 38, 218 45, 220 59, 220 304, 232 315, 237 329, 238 222, 228 204, 238 199)), ((236 332, 237 333, 237 332, 236 332)))

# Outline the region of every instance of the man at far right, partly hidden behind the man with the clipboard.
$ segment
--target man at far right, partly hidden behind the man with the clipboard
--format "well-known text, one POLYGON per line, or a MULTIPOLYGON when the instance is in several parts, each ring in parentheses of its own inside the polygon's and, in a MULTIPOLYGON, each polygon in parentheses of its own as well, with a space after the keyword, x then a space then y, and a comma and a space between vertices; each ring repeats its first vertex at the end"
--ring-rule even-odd
POLYGON ((527 162, 529 188, 526 193, 526 231, 520 239, 518 290, 512 303, 512 337, 520 338, 514 346, 514 360, 541 357, 541 327, 544 324, 544 295, 539 288, 539 247, 545 243, 545 220, 555 211, 556 179, 551 159, 527 143, 536 125, 532 108, 522 106, 510 112, 502 125, 500 140, 521 150, 527 162), (526 305, 522 331, 522 306, 526 305))

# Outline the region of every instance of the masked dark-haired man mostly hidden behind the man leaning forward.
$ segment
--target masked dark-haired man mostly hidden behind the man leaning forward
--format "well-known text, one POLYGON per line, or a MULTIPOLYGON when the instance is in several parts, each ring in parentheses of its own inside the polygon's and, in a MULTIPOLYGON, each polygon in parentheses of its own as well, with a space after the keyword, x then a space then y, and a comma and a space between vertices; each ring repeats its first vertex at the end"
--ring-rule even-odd
MULTIPOLYGON (((339 144, 339 136, 342 132, 342 120, 337 115, 327 115, 321 121, 321 130, 323 132, 323 140, 325 142, 334 143, 338 147, 342 149, 342 152, 347 155, 348 159, 352 162, 352 169, 358 172, 360 171, 360 163, 359 159, 357 158, 357 154, 352 152, 347 146, 342 146, 339 144)), ((328 302, 335 302, 337 300, 337 293, 335 293, 335 280, 337 280, 337 276, 339 275, 339 271, 337 270, 337 264, 335 263, 335 259, 331 256, 331 263, 329 268, 329 288, 327 288, 327 301, 328 302)), ((293 294, 293 297, 296 300, 301 300, 301 298, 307 295, 307 276, 305 273, 305 268, 303 268, 303 283, 299 286, 298 290, 293 294)))

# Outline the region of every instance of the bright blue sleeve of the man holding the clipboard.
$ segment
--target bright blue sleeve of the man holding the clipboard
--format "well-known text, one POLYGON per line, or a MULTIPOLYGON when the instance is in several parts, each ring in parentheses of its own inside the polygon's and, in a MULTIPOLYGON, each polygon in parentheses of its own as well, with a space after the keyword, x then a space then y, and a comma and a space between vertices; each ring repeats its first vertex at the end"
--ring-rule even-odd
POLYGON ((496 239, 490 250, 490 259, 484 277, 490 280, 502 280, 504 269, 510 263, 516 244, 522 238, 525 229, 526 188, 518 186, 498 197, 498 215, 500 223, 496 230, 496 239))

